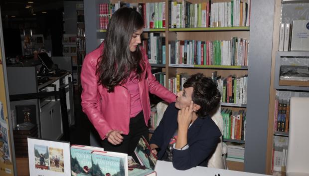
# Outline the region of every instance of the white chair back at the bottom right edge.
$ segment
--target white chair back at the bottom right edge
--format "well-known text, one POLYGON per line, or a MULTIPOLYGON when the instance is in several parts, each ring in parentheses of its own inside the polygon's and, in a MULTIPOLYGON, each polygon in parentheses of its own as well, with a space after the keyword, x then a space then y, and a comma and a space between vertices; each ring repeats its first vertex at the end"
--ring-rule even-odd
POLYGON ((309 176, 308 124, 309 97, 292 97, 286 176, 309 176))

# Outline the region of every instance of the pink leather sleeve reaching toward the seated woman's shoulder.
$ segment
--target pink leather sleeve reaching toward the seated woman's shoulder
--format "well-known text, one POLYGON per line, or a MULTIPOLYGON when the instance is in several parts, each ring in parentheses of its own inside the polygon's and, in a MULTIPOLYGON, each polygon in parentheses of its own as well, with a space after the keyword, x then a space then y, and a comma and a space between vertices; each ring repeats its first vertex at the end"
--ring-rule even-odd
MULTIPOLYGON (((141 47, 142 48, 142 47, 141 47)), ((149 91, 152 94, 155 94, 156 96, 160 97, 161 99, 163 99, 164 101, 166 101, 167 103, 171 103, 174 102, 176 100, 176 95, 173 94, 171 91, 169 91, 168 89, 166 89, 164 86, 162 86, 154 77, 154 75, 152 74, 152 69, 151 69, 151 65, 148 62, 148 57, 147 54, 145 52, 145 50, 142 48, 142 52, 144 55, 144 59, 146 60, 146 66, 147 66, 147 79, 148 79, 148 85, 149 85, 149 91)))

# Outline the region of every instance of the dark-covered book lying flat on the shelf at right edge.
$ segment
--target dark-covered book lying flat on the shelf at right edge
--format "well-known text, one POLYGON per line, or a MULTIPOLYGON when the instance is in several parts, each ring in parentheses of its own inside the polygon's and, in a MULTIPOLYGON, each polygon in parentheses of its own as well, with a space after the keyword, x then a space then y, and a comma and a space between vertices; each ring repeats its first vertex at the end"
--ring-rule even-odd
POLYGON ((309 81, 309 68, 305 65, 281 65, 280 80, 309 81))

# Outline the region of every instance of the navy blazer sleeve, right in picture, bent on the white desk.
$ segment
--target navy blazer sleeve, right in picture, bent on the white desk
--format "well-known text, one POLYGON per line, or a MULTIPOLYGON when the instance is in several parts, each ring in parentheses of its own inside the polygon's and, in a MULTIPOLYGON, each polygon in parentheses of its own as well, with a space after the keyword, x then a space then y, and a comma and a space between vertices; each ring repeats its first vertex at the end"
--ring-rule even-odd
MULTIPOLYGON (((212 131, 207 133, 212 133, 212 131)), ((201 138, 201 136, 197 137, 201 138)), ((173 167, 177 170, 188 170, 198 166, 214 152, 219 140, 219 136, 211 135, 189 145, 186 150, 173 150, 173 167)))

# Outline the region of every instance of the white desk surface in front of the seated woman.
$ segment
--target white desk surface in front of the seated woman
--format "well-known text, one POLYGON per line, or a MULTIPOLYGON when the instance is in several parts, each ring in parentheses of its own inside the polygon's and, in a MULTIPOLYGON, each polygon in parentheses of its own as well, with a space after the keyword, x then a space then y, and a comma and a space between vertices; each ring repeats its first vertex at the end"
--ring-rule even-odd
POLYGON ((171 162, 157 161, 154 171, 156 176, 268 176, 264 174, 245 173, 206 167, 195 167, 186 171, 176 170, 171 162))

